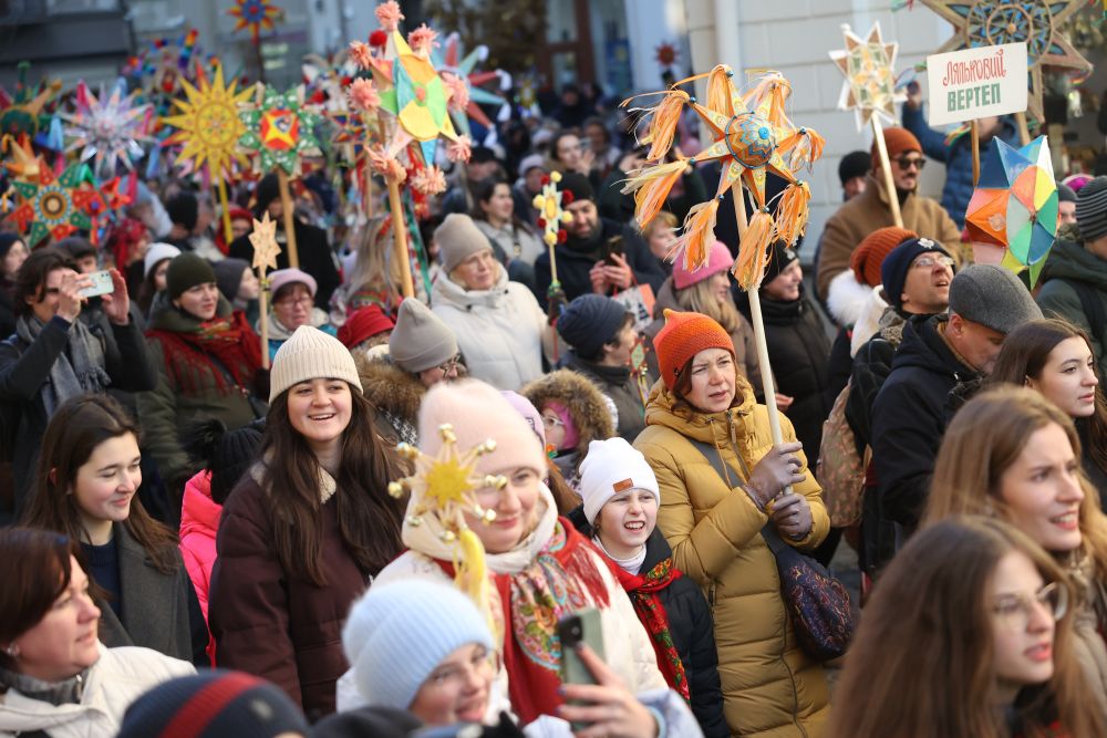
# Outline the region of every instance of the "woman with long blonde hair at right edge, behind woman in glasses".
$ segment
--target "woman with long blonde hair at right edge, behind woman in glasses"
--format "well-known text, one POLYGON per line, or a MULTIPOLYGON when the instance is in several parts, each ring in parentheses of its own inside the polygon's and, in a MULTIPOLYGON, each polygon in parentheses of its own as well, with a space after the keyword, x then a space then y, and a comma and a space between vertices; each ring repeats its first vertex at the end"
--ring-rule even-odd
POLYGON ((985 514, 1053 554, 1075 588, 1075 653, 1107 720, 1107 518, 1079 459, 1068 415, 1032 389, 990 389, 945 430, 923 524, 985 514))

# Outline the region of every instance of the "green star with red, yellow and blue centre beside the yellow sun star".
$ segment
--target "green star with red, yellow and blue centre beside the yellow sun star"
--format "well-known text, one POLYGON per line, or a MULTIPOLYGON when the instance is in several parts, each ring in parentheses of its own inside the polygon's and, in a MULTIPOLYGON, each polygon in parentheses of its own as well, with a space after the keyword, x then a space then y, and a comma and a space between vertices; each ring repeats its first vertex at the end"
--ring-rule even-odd
POLYGON ((258 152, 263 171, 280 167, 288 175, 300 168, 301 154, 319 149, 314 129, 320 116, 308 110, 296 89, 281 94, 265 87, 262 100, 239 111, 245 132, 238 143, 258 152))

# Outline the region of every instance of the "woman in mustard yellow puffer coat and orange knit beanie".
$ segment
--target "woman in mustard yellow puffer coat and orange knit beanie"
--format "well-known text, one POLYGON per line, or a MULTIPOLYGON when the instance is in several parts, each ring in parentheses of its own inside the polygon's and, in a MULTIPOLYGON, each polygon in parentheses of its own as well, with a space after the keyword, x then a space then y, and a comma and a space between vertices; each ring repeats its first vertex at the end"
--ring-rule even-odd
POLYGON ((796 641, 761 529, 772 520, 784 540, 814 549, 830 527, 821 490, 784 415, 784 443, 773 446, 768 409, 735 371, 726 331, 699 313, 666 310, 665 321, 654 339, 662 378, 634 446, 658 477, 658 527, 674 563, 712 607, 726 723, 734 736, 819 738, 823 666, 796 641))

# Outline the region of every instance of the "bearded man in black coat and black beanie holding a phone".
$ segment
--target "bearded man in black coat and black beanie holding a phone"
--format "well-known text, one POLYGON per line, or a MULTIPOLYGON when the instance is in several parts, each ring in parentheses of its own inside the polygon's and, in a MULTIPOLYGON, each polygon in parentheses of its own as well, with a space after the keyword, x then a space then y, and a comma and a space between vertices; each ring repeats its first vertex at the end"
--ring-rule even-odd
MULTIPOLYGON (((610 295, 635 283, 649 284, 658 294, 668 274, 632 226, 600 218, 588 178, 565 174, 558 189, 572 193, 572 201, 565 206, 572 214, 565 227, 568 239, 554 249, 566 300, 590 293, 610 295), (612 245, 615 238, 619 240, 612 245)), ((552 280, 549 251, 535 261, 535 278, 538 301, 545 306, 552 280)))

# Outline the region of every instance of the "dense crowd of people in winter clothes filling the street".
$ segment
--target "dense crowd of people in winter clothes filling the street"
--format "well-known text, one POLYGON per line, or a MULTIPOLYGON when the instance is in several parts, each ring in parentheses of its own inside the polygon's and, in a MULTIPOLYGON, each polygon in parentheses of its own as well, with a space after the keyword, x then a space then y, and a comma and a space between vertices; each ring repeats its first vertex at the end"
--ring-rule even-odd
POLYGON ((883 133, 894 191, 842 158, 810 280, 772 245, 767 365, 734 225, 669 259, 712 173, 640 229, 648 149, 575 87, 410 224, 414 295, 325 167, 263 284, 276 175, 234 238, 155 181, 100 243, 0 233, 0 735, 1107 735, 1107 178, 1062 190, 1032 290, 973 263, 965 139, 921 110, 883 133), (459 540, 425 459, 478 447, 459 540), (796 589, 844 593, 847 550, 816 622, 796 589))

